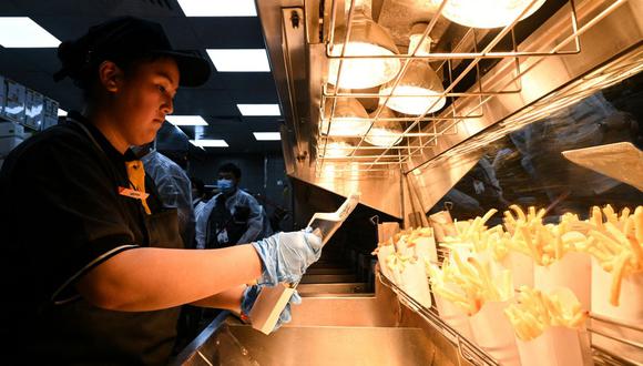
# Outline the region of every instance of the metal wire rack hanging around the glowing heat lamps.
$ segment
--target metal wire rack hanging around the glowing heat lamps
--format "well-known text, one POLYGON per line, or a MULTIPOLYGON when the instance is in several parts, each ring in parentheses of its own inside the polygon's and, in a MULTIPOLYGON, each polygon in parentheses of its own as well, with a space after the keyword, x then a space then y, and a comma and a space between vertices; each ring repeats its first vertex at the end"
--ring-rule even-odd
MULTIPOLYGON (((364 90, 344 90, 326 83, 322 85, 320 102, 320 121, 319 134, 317 136, 317 175, 323 175, 324 165, 330 164, 336 173, 349 171, 369 172, 372 174, 386 174, 391 169, 404 171, 404 164, 410 159, 422 156, 423 150, 436 146, 440 139, 458 134, 458 124, 468 119, 483 118, 483 106, 491 99, 501 94, 520 93, 522 91, 521 78, 532 70, 538 63, 547 58, 561 57, 568 54, 578 54, 581 52, 580 37, 586 30, 592 28, 598 21, 608 17, 615 11, 626 0, 614 1, 606 9, 594 16, 590 20, 584 19, 584 24, 579 26, 576 7, 574 0, 570 0, 562 9, 568 12, 569 23, 568 34, 564 39, 559 40, 555 45, 538 51, 524 51, 519 47, 517 41, 516 26, 523 14, 528 13, 531 7, 534 7, 538 0, 532 0, 510 24, 500 29, 490 40, 489 37, 481 42, 480 30, 469 28, 465 37, 455 44, 449 52, 421 53, 418 52, 420 44, 429 40, 429 34, 435 29, 445 6, 450 0, 445 0, 437 8, 435 14, 428 22, 420 41, 414 49, 407 53, 395 55, 346 55, 346 48, 341 48, 339 55, 333 52, 337 44, 346 44, 350 39, 353 20, 356 13, 356 0, 350 1, 347 16, 341 19, 343 12, 338 11, 339 2, 344 0, 333 0, 330 10, 330 20, 328 24, 328 34, 326 39, 326 58, 329 61, 338 62, 337 74, 334 80, 340 80, 343 65, 346 60, 354 59, 397 59, 400 60, 401 68, 395 79, 389 83, 392 84, 390 90, 400 83, 409 65, 415 61, 429 62, 438 74, 443 75, 442 84, 445 85, 443 96, 447 100, 446 108, 439 113, 429 113, 438 103, 438 99, 428 106, 420 115, 398 114, 396 118, 386 118, 382 111, 391 99, 412 98, 417 95, 404 95, 395 93, 391 95, 381 94, 380 92, 365 92, 364 90), (346 32, 343 39, 336 39, 335 29, 338 21, 345 20, 346 32), (509 40, 509 49, 507 49, 509 40), (499 50, 504 48, 504 50, 499 50), (525 59, 533 60, 529 67, 523 67, 525 59), (501 85, 490 85, 484 81, 484 70, 481 67, 483 60, 497 60, 506 62, 510 69, 509 80, 501 85), (473 82, 471 83, 471 77, 473 82), (470 84, 465 85, 468 82, 470 84), (463 88, 467 87, 467 88, 463 88), (465 89, 467 91, 459 91, 465 89), (368 130, 363 135, 343 139, 350 144, 340 146, 331 145, 337 138, 329 136, 331 124, 336 116, 337 101, 343 98, 357 98, 360 100, 376 100, 378 106, 368 119, 370 123, 368 130), (326 118, 327 123, 324 125, 322 119, 326 118), (378 122, 395 122, 401 125, 401 132, 397 133, 390 143, 386 145, 371 145, 365 138, 378 122), (337 151, 340 151, 338 154, 337 151)), ((339 122, 335 122, 339 123, 339 122)), ((359 174, 355 174, 358 176, 359 174)))

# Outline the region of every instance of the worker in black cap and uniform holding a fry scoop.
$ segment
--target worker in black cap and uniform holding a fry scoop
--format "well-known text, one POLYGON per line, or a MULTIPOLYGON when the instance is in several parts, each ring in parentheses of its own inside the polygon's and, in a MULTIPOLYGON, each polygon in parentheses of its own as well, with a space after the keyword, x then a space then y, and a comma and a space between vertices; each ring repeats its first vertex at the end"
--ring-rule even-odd
MULTIPOLYGON (((182 248, 176 211, 129 148, 154 140, 178 87, 203 84, 210 65, 174 51, 160 24, 114 19, 58 55, 54 77, 82 89, 84 109, 0 171, 4 364, 165 364, 181 305, 247 319, 265 284, 296 282, 319 257, 307 231, 182 248)), ((287 306, 277 326, 288 319, 287 306)))

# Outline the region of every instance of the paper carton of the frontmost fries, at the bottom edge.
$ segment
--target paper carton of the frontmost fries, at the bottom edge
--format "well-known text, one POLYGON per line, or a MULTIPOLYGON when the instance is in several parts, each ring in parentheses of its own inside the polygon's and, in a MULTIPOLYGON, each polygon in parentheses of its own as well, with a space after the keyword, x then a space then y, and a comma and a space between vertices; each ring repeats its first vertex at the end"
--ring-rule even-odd
POLYGON ((571 366, 586 365, 591 355, 583 356, 581 335, 578 329, 550 327, 538 338, 516 340, 522 366, 571 366))

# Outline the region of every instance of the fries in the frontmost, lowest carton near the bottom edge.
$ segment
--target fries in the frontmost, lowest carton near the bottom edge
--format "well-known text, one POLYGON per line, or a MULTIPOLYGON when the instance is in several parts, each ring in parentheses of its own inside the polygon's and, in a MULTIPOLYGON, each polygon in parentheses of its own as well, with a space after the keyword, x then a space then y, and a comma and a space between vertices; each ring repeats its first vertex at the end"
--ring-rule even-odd
POLYGON ((579 328, 589 315, 575 296, 573 301, 563 301, 555 294, 543 294, 527 286, 520 287, 517 301, 504 314, 521 340, 534 339, 550 326, 579 328))

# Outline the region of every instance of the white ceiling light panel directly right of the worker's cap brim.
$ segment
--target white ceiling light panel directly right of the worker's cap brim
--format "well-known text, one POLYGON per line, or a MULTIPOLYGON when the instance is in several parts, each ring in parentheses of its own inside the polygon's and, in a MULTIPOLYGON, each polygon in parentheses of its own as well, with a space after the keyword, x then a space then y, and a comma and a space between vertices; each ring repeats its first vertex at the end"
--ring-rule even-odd
POLYGON ((264 49, 206 50, 218 72, 269 72, 264 49))

